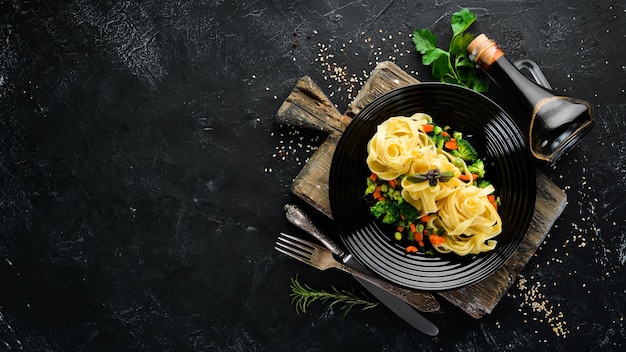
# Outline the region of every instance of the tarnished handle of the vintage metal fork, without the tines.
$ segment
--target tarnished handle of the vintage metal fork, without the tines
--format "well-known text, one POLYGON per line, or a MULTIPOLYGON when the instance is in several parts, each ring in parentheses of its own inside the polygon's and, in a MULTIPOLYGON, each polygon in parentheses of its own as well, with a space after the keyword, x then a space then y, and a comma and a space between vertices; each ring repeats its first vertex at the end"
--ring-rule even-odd
POLYGON ((343 263, 333 262, 333 267, 343 270, 347 273, 352 274, 359 279, 363 279, 372 285, 376 285, 383 290, 391 293, 392 295, 400 298, 404 302, 411 305, 413 308, 423 311, 423 312, 433 312, 439 310, 439 302, 433 295, 425 292, 417 292, 413 290, 409 290, 406 288, 402 288, 391 284, 385 280, 379 279, 375 276, 369 275, 359 270, 355 270, 343 263))

